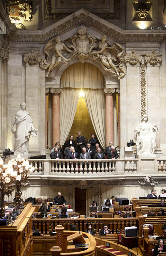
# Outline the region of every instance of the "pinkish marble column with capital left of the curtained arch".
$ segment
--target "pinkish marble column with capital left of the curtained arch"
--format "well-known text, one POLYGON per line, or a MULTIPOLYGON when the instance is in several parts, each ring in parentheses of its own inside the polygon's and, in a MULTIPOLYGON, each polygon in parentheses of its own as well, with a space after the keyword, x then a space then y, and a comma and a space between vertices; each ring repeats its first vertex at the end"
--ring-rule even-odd
POLYGON ((52 147, 60 143, 60 88, 51 88, 52 97, 52 147))

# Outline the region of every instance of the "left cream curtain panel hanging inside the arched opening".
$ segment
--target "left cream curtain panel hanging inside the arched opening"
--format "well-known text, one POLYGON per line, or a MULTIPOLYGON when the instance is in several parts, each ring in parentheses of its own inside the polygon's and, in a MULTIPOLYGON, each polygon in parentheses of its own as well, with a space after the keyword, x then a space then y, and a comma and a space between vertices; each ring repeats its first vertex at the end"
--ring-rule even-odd
POLYGON ((60 144, 64 145, 71 129, 80 89, 63 88, 60 95, 60 144))

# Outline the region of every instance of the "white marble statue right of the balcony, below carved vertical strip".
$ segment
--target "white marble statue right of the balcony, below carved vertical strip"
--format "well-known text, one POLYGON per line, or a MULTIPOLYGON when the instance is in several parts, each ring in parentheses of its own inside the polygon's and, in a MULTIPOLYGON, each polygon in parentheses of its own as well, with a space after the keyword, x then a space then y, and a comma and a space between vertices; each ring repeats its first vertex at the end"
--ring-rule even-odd
POLYGON ((155 151, 155 139, 158 126, 155 124, 152 126, 148 122, 148 117, 143 115, 142 122, 136 127, 134 132, 137 154, 154 154, 155 151))

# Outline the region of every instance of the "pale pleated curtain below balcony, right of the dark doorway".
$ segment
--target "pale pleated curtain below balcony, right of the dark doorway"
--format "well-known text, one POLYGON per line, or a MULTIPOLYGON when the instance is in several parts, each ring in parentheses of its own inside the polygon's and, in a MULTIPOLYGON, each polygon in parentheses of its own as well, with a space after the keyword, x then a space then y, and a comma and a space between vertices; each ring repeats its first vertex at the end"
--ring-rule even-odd
POLYGON ((146 197, 151 194, 151 190, 156 190, 156 195, 161 194, 161 187, 151 187, 151 186, 111 186, 111 187, 101 187, 102 200, 111 198, 112 195, 115 197, 127 197, 129 200, 132 198, 146 197))

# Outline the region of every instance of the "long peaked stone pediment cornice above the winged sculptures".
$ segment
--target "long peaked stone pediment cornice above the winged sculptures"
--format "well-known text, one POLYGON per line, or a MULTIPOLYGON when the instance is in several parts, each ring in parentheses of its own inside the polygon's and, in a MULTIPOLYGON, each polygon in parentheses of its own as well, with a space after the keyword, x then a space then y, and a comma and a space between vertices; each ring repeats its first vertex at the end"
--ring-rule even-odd
POLYGON ((151 32, 122 30, 101 18, 98 19, 98 16, 89 13, 84 9, 80 9, 42 31, 17 31, 16 35, 10 36, 10 40, 15 42, 46 43, 51 38, 64 34, 71 30, 71 28, 79 25, 91 27, 119 43, 161 42, 166 37, 165 31, 151 32))

